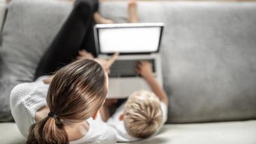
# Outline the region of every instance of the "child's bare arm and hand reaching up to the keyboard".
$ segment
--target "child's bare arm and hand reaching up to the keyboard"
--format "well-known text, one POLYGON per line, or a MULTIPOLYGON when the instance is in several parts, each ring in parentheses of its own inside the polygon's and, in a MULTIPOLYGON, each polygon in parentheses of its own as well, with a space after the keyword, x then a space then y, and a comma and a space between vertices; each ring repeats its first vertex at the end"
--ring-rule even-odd
POLYGON ((161 102, 165 104, 169 104, 169 99, 165 90, 158 85, 158 82, 153 76, 152 66, 149 61, 140 61, 137 65, 137 72, 141 74, 145 81, 147 81, 148 85, 150 85, 152 91, 158 96, 161 102))

